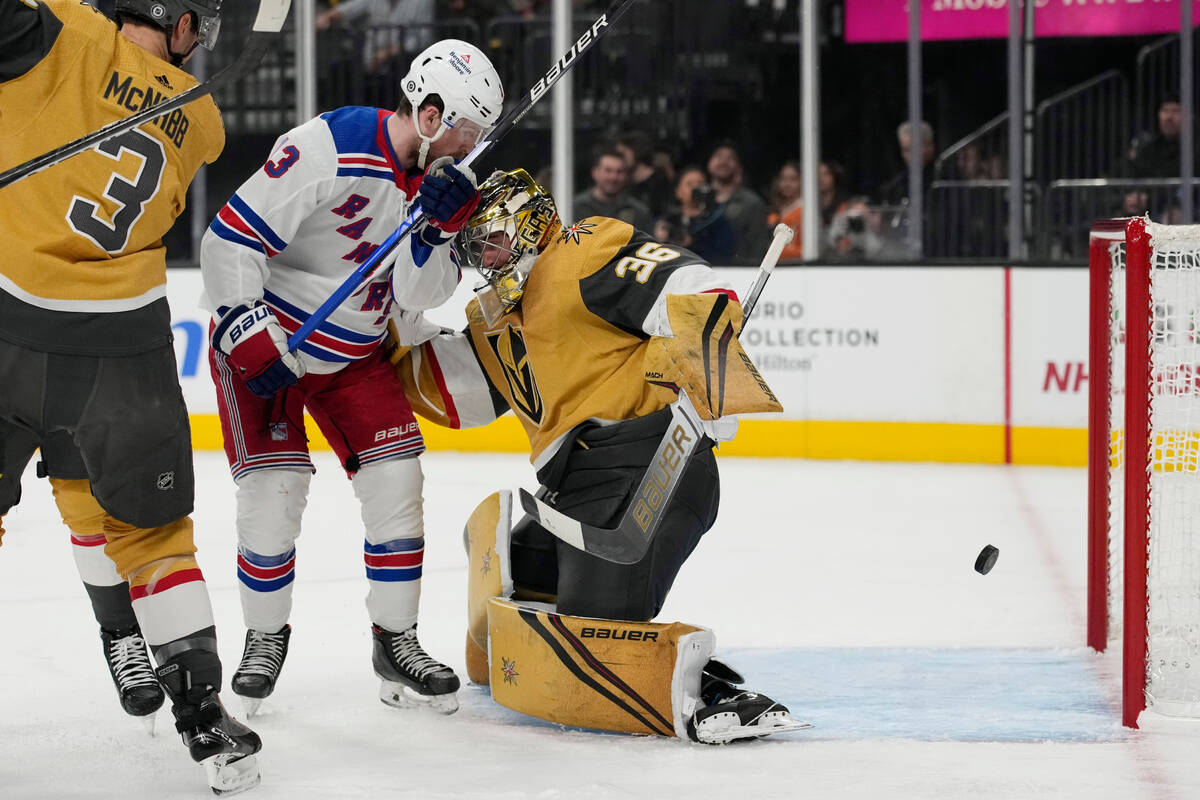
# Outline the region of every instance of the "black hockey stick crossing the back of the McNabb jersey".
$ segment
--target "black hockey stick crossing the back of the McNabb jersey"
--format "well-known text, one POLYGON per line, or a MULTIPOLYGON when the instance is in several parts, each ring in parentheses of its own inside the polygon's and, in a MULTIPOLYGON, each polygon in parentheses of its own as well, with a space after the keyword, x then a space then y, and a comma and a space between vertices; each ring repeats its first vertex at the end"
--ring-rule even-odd
POLYGON ((80 154, 84 150, 90 150, 101 142, 107 142, 114 136, 119 136, 130 128, 142 125, 143 122, 149 122, 158 119, 163 114, 169 114, 176 108, 188 104, 193 100, 199 100, 205 95, 210 95, 220 89, 224 89, 229 84, 236 83, 242 78, 242 76, 258 66, 259 60, 262 60, 266 50, 269 50, 280 38, 280 30, 283 28, 283 23, 288 18, 288 8, 290 6, 292 0, 259 0, 258 17, 254 19, 254 26, 251 29, 250 37, 246 40, 246 44, 242 47, 241 54, 238 56, 236 61, 204 83, 192 86, 186 91, 181 91, 169 100, 150 106, 149 108, 143 108, 140 112, 131 114, 125 119, 115 120, 102 128, 92 131, 86 136, 82 136, 74 142, 68 142, 61 148, 50 150, 44 155, 26 161, 23 164, 17 164, 11 169, 6 169, 0 173, 0 188, 4 188, 10 184, 16 184, 23 178, 29 178, 34 173, 48 169, 60 161, 66 161, 71 156, 80 154))

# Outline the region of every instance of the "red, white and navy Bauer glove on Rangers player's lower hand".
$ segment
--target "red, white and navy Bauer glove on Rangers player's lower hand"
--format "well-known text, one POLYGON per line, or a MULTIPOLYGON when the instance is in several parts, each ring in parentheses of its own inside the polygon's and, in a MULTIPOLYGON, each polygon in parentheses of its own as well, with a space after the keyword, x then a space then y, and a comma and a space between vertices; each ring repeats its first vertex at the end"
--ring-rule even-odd
POLYGON ((288 351, 288 337, 275 314, 262 303, 228 309, 212 331, 212 347, 259 397, 274 397, 305 373, 300 359, 288 351))

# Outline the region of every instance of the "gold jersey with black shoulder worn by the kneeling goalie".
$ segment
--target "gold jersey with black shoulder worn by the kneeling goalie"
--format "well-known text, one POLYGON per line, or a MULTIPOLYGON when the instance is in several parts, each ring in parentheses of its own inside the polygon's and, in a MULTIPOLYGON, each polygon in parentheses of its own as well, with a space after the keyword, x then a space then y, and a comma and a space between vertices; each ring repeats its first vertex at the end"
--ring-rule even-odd
POLYGON ((472 300, 466 336, 401 351, 398 372, 414 410, 442 425, 481 425, 511 408, 540 468, 580 423, 644 416, 676 399, 647 380, 647 345, 670 333, 668 294, 704 291, 733 294, 694 253, 589 217, 546 247, 515 311, 488 325, 472 300), (455 347, 464 339, 474 357, 455 347))

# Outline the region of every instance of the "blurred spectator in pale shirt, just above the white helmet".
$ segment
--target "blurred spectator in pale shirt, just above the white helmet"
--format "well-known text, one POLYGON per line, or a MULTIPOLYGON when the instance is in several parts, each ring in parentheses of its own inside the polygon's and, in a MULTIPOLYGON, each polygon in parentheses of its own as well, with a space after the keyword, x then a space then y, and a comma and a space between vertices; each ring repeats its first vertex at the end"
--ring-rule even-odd
MULTIPOLYGON (((317 30, 358 28, 366 36, 362 64, 379 74, 433 41, 433 10, 434 0, 346 0, 317 16, 317 30)), ((401 67, 407 71, 408 64, 401 67)))

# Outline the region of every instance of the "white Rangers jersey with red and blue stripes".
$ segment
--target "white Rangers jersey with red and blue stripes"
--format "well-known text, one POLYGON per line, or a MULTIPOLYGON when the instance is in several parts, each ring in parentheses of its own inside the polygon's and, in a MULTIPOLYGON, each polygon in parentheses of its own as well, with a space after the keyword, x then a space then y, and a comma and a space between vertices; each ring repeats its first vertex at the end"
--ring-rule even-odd
MULTIPOLYGON (((290 336, 397 228, 422 173, 388 138, 391 112, 347 107, 293 128, 209 225, 202 306, 262 300, 290 336)), ((370 355, 388 319, 445 302, 462 277, 452 245, 412 235, 299 348, 313 373, 370 355)))

